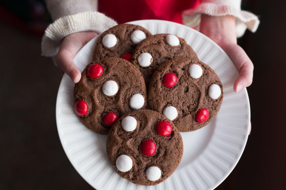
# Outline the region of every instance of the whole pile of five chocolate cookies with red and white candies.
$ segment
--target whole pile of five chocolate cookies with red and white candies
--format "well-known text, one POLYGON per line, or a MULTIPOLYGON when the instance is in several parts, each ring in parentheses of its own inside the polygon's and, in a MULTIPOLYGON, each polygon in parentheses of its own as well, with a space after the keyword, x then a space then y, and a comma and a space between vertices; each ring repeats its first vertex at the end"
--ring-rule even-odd
POLYGON ((184 39, 132 24, 103 32, 93 59, 74 86, 76 114, 108 135, 108 159, 120 176, 161 183, 183 156, 179 132, 200 129, 219 111, 219 78, 184 39))

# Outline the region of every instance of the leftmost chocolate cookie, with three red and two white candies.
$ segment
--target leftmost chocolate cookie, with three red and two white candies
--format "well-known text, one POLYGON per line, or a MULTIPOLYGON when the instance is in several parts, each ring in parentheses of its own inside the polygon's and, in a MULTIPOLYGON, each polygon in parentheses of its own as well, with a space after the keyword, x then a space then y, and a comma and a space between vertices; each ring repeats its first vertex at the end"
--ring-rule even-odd
POLYGON ((107 134, 117 118, 146 107, 143 76, 122 58, 93 61, 74 86, 74 103, 75 112, 88 129, 107 134))

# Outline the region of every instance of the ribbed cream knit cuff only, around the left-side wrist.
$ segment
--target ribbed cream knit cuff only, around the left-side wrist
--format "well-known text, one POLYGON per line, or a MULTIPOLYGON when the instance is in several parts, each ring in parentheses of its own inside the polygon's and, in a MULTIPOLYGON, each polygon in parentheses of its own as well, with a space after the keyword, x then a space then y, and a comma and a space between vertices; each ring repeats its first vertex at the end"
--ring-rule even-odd
POLYGON ((100 12, 80 12, 55 20, 50 24, 42 38, 42 56, 55 56, 61 41, 69 34, 80 31, 95 31, 98 34, 117 25, 113 19, 100 12))

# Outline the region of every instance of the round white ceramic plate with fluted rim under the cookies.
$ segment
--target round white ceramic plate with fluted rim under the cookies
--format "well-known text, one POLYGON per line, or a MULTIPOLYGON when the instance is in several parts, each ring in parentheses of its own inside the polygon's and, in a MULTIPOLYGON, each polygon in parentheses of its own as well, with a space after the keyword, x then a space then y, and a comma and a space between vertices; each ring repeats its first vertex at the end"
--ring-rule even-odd
MULTIPOLYGON (((77 172, 95 189, 215 189, 234 169, 243 153, 250 125, 250 106, 244 88, 233 91, 239 76, 226 53, 208 37, 181 24, 162 20, 130 22, 152 34, 169 33, 186 39, 208 64, 223 84, 220 111, 207 126, 182 132, 184 154, 175 172, 156 186, 139 186, 120 177, 108 162, 106 135, 88 130, 74 112, 74 83, 66 75, 60 83, 56 103, 57 129, 63 149, 77 172)), ((88 42, 75 56, 74 63, 82 72, 91 62, 98 37, 88 42)))

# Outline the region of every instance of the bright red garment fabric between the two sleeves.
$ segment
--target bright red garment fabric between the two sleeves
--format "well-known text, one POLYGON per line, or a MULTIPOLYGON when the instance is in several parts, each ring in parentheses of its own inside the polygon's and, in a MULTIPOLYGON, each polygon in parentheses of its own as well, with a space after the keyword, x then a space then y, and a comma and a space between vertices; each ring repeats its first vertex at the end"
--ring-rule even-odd
POLYGON ((195 8, 200 0, 99 0, 98 11, 117 23, 159 19, 182 24, 182 11, 195 8))

